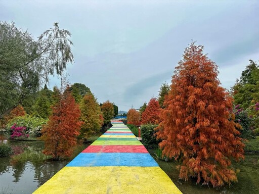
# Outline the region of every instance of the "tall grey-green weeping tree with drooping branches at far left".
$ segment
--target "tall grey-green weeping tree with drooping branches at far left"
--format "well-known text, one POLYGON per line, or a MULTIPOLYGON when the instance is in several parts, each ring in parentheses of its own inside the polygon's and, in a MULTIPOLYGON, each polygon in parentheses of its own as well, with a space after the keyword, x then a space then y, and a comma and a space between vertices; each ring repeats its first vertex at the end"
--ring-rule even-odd
POLYGON ((0 22, 0 118, 73 62, 70 36, 54 23, 35 40, 14 23, 0 22))

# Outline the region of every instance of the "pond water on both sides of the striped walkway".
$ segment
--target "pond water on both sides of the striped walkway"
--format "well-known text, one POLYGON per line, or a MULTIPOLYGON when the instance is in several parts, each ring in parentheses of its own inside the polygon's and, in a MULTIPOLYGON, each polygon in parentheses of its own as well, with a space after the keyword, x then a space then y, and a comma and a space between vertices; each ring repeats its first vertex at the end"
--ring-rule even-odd
MULTIPOLYGON (((49 180, 89 144, 79 144, 73 156, 62 161, 52 161, 41 153, 44 142, 41 141, 9 141, 14 155, 0 158, 0 194, 32 193, 40 185, 49 180)), ((154 155, 154 150, 149 150, 154 155)), ((156 160, 172 181, 184 194, 223 194, 223 193, 259 193, 259 154, 245 155, 245 161, 233 162, 235 169, 240 169, 238 182, 231 186, 214 189, 208 186, 196 185, 191 179, 187 182, 178 179, 176 162, 156 160)), ((157 185, 159 186, 159 185, 157 185)))

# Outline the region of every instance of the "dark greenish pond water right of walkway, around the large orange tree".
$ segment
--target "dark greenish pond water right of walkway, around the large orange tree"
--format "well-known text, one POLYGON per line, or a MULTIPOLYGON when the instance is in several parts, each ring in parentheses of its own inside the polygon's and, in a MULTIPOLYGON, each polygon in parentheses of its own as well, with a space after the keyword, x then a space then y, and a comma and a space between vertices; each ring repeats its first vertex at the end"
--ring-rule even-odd
MULTIPOLYGON (((154 156, 154 150, 148 150, 154 156)), ((258 194, 259 193, 259 154, 245 155, 245 160, 236 163, 232 162, 234 169, 239 169, 237 174, 238 182, 231 186, 225 185, 220 189, 215 189, 211 185, 197 185, 195 179, 185 182, 178 179, 179 171, 174 161, 165 162, 156 160, 160 168, 171 178, 183 194, 258 194)))

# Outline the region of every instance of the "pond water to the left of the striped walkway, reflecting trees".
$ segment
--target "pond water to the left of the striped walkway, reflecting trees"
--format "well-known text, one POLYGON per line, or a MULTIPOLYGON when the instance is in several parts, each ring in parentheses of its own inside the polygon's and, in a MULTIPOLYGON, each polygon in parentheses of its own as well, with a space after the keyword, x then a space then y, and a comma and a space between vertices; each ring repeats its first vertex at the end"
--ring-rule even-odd
POLYGON ((14 155, 0 158, 0 194, 32 193, 49 180, 89 144, 77 145, 73 156, 52 161, 41 153, 42 141, 9 141, 14 155))

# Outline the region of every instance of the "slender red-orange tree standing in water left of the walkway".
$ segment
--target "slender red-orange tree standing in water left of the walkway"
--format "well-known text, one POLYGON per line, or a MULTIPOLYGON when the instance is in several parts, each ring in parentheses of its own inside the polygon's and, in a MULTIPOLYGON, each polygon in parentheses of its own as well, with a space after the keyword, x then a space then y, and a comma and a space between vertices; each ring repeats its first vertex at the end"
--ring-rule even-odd
POLYGON ((54 160, 72 155, 82 124, 79 121, 79 105, 70 92, 64 92, 59 97, 59 102, 52 107, 53 113, 47 125, 41 131, 41 139, 45 141, 43 153, 51 155, 54 160))

